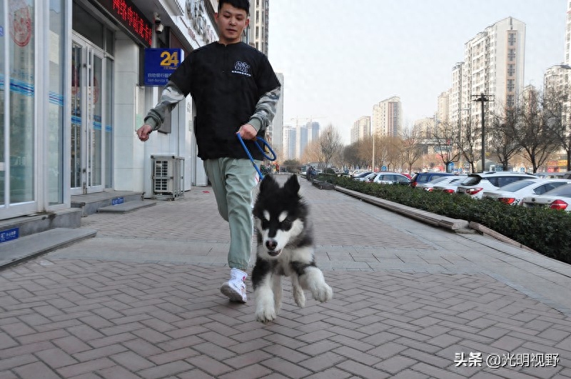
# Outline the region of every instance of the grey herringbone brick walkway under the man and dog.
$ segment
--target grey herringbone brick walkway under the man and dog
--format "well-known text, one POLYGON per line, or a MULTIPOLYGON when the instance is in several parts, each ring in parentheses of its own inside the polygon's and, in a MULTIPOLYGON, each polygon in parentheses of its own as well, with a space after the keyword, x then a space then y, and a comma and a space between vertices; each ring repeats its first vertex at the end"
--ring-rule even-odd
POLYGON ((570 266, 301 184, 328 303, 287 281, 273 323, 228 303, 228 228, 194 188, 1 270, 0 379, 571 378, 570 266))

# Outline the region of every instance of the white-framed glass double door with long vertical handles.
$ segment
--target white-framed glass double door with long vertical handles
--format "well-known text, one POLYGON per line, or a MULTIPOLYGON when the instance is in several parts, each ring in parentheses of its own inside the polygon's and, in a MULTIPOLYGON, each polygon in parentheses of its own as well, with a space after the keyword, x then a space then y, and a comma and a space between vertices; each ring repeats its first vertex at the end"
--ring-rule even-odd
POLYGON ((71 54, 71 194, 105 187, 106 103, 103 51, 74 34, 71 54))

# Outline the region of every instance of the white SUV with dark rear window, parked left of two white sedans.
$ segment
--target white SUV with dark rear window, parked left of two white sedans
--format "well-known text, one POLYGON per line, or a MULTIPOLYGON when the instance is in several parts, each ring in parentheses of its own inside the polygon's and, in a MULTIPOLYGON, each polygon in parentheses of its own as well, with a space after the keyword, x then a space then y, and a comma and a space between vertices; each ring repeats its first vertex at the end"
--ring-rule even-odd
POLYGON ((468 195, 472 198, 482 198, 484 191, 496 190, 515 181, 537 178, 530 173, 516 173, 510 171, 487 171, 483 173, 470 173, 458 189, 458 195, 468 195))

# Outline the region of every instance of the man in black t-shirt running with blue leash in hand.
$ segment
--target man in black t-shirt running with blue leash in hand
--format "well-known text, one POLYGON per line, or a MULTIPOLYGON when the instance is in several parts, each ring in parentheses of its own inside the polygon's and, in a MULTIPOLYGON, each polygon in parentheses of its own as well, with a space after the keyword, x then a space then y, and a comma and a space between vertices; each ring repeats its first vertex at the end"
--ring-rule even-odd
POLYGON ((147 141, 160 128, 165 113, 191 94, 196 104, 194 125, 198 156, 211 181, 218 213, 230 226, 230 281, 221 292, 231 301, 246 303, 246 270, 250 261, 253 221, 252 190, 256 171, 238 141, 243 138, 258 164, 255 148, 263 136, 281 94, 281 85, 267 57, 241 42, 248 26, 248 0, 221 0, 214 15, 219 40, 192 51, 169 78, 161 101, 148 112, 137 130, 147 141))

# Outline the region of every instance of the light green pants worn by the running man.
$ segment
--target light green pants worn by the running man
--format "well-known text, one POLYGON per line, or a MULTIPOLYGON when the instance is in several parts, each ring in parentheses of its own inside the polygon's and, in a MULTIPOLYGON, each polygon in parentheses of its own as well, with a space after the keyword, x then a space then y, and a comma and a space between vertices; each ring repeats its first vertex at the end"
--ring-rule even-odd
POLYGON ((249 159, 236 158, 206 159, 204 170, 216 196, 218 213, 230 226, 228 266, 246 271, 252 248, 252 190, 256 186, 256 170, 249 159))

